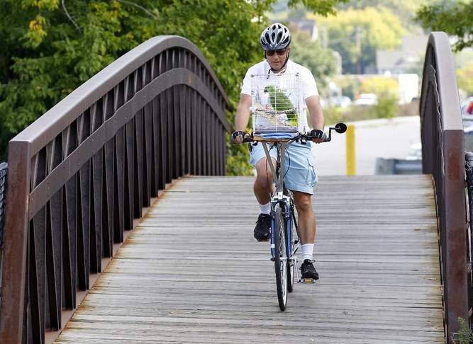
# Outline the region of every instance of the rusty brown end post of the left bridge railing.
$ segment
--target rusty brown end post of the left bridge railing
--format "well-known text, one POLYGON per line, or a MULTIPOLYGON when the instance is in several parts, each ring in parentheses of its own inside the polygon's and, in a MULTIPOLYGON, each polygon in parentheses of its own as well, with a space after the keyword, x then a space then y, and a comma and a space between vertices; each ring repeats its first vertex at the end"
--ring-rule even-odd
POLYGON ((9 189, 6 193, 4 251, 0 299, 0 343, 19 344, 23 331, 28 247, 29 143, 9 144, 9 189))

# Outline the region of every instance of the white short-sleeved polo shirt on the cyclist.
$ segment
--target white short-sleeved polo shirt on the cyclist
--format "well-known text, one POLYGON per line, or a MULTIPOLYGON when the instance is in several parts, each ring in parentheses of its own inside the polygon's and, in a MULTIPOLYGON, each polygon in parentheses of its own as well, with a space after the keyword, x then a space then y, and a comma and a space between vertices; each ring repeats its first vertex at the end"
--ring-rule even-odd
MULTIPOLYGON (((255 74, 273 73, 270 69, 271 67, 269 66, 269 63, 266 59, 250 67, 246 72, 245 79, 243 79, 243 86, 240 93, 251 96, 251 76, 255 74)), ((318 96, 316 80, 313 78, 313 75, 309 69, 289 59, 286 64, 286 71, 284 71, 284 73, 299 73, 301 77, 301 93, 304 102, 308 97, 318 96)), ((300 127, 308 127, 307 116, 301 116, 299 118, 299 125, 300 127)))

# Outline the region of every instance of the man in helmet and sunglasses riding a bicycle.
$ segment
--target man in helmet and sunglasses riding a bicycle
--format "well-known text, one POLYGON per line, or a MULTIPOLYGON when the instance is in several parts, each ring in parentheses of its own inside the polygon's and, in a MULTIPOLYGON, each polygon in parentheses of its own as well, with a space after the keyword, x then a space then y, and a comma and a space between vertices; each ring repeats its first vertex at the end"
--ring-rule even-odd
MULTIPOLYGON (((311 71, 306 67, 296 64, 289 59, 291 34, 286 26, 280 23, 269 25, 261 34, 260 44, 265 52, 265 60, 255 64, 248 69, 240 95, 240 103, 235 117, 235 132, 232 134, 233 142, 242 143, 243 134, 250 119, 250 107, 252 106, 250 78, 255 74, 280 74, 299 73, 301 76, 301 92, 310 113, 311 132, 318 137, 312 141, 323 142, 324 117, 319 101, 316 81, 311 71)), ((299 119, 299 127, 308 130, 306 116, 299 119)), ((276 149, 270 149, 272 164, 276 164, 276 149)), ((256 222, 255 239, 267 241, 271 236, 271 198, 272 171, 267 162, 265 150, 262 143, 256 146, 250 145, 250 164, 255 166, 257 177, 253 185, 253 191, 260 205, 260 215, 256 222)), ((317 183, 315 164, 311 154, 311 142, 291 142, 284 156, 285 166, 289 170, 284 171, 284 185, 294 194, 294 203, 299 216, 299 237, 304 263, 301 265, 301 277, 304 279, 318 280, 318 273, 313 267, 313 246, 316 236, 316 217, 313 214, 311 196, 313 187, 317 183)))

